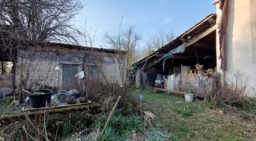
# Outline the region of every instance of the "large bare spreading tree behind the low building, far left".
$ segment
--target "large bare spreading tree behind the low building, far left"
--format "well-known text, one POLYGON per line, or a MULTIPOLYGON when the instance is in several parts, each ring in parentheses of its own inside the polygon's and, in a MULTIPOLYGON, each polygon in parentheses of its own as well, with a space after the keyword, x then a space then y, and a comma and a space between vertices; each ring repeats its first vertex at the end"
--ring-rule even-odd
POLYGON ((70 21, 82 7, 78 0, 1 0, 1 47, 40 42, 76 43, 74 34, 78 30, 70 21))

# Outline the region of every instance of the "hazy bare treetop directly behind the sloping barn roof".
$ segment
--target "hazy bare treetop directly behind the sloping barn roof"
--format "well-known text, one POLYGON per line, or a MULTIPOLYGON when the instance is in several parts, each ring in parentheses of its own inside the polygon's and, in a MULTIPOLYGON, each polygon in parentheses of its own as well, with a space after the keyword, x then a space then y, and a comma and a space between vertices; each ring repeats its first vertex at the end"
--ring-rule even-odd
POLYGON ((150 35, 150 39, 147 42, 144 53, 145 56, 150 55, 155 50, 163 47, 168 42, 171 42, 175 38, 172 31, 166 32, 163 29, 159 29, 158 33, 155 35, 150 35))

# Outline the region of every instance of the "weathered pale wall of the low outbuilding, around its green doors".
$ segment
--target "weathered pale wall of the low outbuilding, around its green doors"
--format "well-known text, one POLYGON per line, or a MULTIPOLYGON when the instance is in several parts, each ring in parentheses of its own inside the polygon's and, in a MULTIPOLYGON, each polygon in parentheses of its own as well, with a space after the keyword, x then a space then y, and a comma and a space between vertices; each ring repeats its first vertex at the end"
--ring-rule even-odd
MULTIPOLYGON (((80 63, 81 61, 73 55, 75 53, 80 57, 80 59, 85 60, 87 56, 87 65, 91 64, 94 60, 88 57, 88 51, 86 50, 70 50, 73 53, 70 53, 68 50, 59 50, 59 83, 60 89, 62 89, 62 78, 63 78, 63 64, 78 65, 78 71, 81 70, 80 63)), ((34 51, 31 50, 19 50, 19 55, 30 55, 34 51)), ((116 56, 113 53, 97 52, 99 57, 103 58, 103 65, 101 66, 104 75, 107 76, 107 80, 111 82, 116 82, 121 84, 121 73, 119 72, 119 64, 116 60, 116 56)), ((57 81, 57 72, 55 71, 55 66, 57 66, 57 55, 56 48, 51 48, 47 50, 42 50, 38 53, 35 53, 32 57, 24 58, 24 80, 25 88, 31 88, 32 85, 37 86, 51 86, 58 88, 57 81)), ((122 64, 125 66, 125 64, 122 64)), ((124 67, 123 67, 124 68, 124 67)), ((16 87, 19 87, 20 81, 20 72, 21 72, 21 57, 17 58, 16 63, 16 87)), ((124 73, 125 74, 125 73, 124 73)), ((75 76, 74 76, 75 77, 75 76)), ((81 81, 78 80, 78 84, 81 81)))

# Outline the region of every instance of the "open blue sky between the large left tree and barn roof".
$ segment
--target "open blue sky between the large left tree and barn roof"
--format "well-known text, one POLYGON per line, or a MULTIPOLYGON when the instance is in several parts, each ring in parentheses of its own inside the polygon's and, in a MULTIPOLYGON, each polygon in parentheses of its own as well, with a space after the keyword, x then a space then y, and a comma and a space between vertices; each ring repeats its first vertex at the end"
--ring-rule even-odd
POLYGON ((150 35, 159 29, 172 30, 178 36, 190 29, 201 19, 215 12, 213 0, 91 0, 82 1, 85 7, 73 24, 85 25, 96 30, 94 47, 106 45, 106 32, 116 35, 122 19, 122 27, 134 26, 142 36, 140 46, 144 46, 150 35))

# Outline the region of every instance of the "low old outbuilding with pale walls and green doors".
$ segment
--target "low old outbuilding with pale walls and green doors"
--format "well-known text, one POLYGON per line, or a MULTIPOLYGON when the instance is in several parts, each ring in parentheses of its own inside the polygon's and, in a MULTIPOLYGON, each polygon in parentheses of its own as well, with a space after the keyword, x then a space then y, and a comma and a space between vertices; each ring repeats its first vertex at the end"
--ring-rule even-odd
POLYGON ((126 52, 120 50, 64 43, 21 47, 13 62, 14 89, 22 86, 24 89, 81 90, 85 81, 89 83, 98 78, 122 85, 121 74, 126 71, 125 56, 126 52), (75 75, 81 71, 85 77, 78 79, 75 75))

